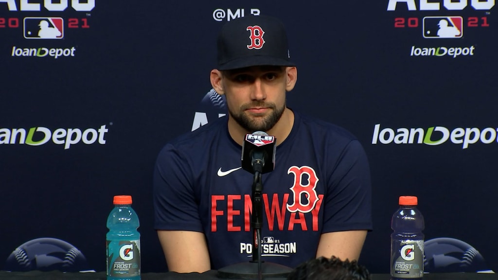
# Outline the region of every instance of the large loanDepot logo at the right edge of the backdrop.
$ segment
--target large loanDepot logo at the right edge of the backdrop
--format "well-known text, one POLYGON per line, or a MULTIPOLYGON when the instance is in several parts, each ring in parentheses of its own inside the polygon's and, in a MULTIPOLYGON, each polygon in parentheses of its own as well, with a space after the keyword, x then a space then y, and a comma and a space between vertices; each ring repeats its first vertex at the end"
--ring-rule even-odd
POLYGON ((391 128, 380 128, 380 124, 373 129, 372 144, 378 142, 382 144, 427 144, 431 146, 440 145, 450 140, 454 144, 461 144, 462 149, 466 149, 470 144, 481 141, 490 144, 497 141, 497 128, 456 128, 450 131, 445 127, 430 127, 427 130, 422 128, 399 128, 394 131, 391 128))

